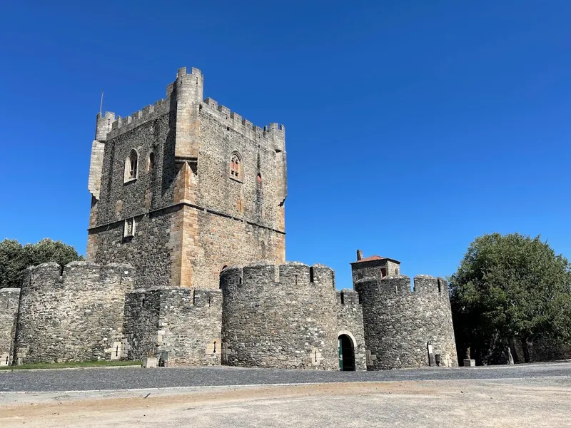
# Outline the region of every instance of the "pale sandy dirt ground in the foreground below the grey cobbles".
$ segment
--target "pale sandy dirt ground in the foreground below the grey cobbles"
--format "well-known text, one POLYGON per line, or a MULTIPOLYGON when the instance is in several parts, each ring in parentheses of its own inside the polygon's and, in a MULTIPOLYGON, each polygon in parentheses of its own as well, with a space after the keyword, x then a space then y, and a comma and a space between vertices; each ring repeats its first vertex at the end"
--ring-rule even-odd
POLYGON ((571 427, 570 386, 510 379, 14 393, 0 395, 0 426, 571 427))

